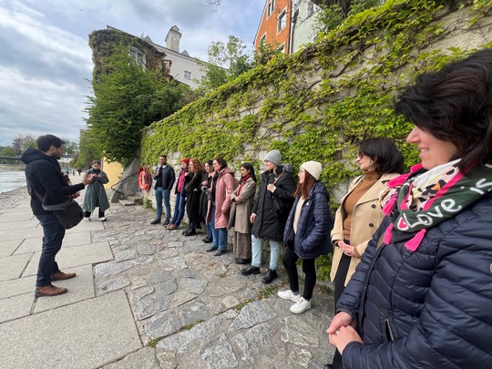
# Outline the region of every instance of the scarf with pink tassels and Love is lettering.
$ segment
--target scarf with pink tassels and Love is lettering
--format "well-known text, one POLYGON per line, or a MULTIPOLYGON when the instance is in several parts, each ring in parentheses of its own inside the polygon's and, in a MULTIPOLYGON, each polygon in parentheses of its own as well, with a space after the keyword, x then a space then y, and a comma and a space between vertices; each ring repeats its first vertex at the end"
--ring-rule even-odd
POLYGON ((455 217, 492 190, 492 165, 479 164, 464 175, 458 169, 459 160, 425 172, 417 164, 388 182, 388 188, 381 194, 383 212, 391 215, 395 206, 398 211, 386 229, 384 243, 391 242, 394 229, 415 233, 405 243, 409 251, 415 251, 426 230, 455 217))

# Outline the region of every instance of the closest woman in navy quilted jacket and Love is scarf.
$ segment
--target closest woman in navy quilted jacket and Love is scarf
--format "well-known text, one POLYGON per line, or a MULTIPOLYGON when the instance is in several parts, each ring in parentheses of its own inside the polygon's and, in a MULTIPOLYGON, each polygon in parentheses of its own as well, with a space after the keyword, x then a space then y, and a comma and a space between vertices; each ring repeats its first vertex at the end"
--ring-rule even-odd
POLYGON ((343 368, 490 367, 492 49, 417 77, 395 111, 421 162, 382 194, 330 343, 343 368))

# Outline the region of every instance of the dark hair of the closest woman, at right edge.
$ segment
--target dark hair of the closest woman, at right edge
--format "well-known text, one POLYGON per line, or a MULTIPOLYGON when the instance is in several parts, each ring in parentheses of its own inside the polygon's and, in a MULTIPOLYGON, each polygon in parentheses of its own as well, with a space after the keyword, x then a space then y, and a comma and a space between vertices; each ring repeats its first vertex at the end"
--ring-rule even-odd
POLYGON ((491 162, 492 49, 484 49, 405 87, 395 111, 435 138, 451 142, 466 173, 491 162))

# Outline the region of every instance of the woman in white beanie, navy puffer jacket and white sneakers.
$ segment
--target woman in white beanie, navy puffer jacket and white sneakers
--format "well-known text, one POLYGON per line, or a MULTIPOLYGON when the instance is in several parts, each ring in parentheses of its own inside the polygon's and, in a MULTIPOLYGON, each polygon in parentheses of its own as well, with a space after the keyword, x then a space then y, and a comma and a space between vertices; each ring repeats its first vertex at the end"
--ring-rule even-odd
POLYGON ((285 224, 283 242, 283 266, 289 276, 290 290, 278 292, 280 298, 295 302, 292 313, 304 313, 311 308, 316 269, 314 262, 322 254, 328 253, 332 246, 330 232, 333 217, 330 213, 330 195, 323 182, 318 180, 322 165, 318 161, 306 161, 299 170, 299 184, 294 192, 295 201, 285 224), (299 294, 299 276, 296 261, 302 259, 302 272, 305 274, 304 291, 299 294))

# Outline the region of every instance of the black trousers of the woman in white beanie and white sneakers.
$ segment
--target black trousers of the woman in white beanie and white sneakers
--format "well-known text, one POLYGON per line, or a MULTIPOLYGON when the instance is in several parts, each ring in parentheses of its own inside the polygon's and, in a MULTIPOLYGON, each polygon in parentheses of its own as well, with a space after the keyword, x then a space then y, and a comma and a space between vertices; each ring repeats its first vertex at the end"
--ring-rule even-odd
MULTIPOLYGON (((296 261, 299 256, 294 252, 293 246, 287 246, 283 254, 283 266, 289 276, 289 283, 292 292, 299 292, 299 275, 297 273, 296 261)), ((314 285, 316 284, 316 268, 314 267, 316 259, 302 259, 302 272, 305 274, 304 292, 302 297, 304 300, 311 300, 313 297, 314 285)))

